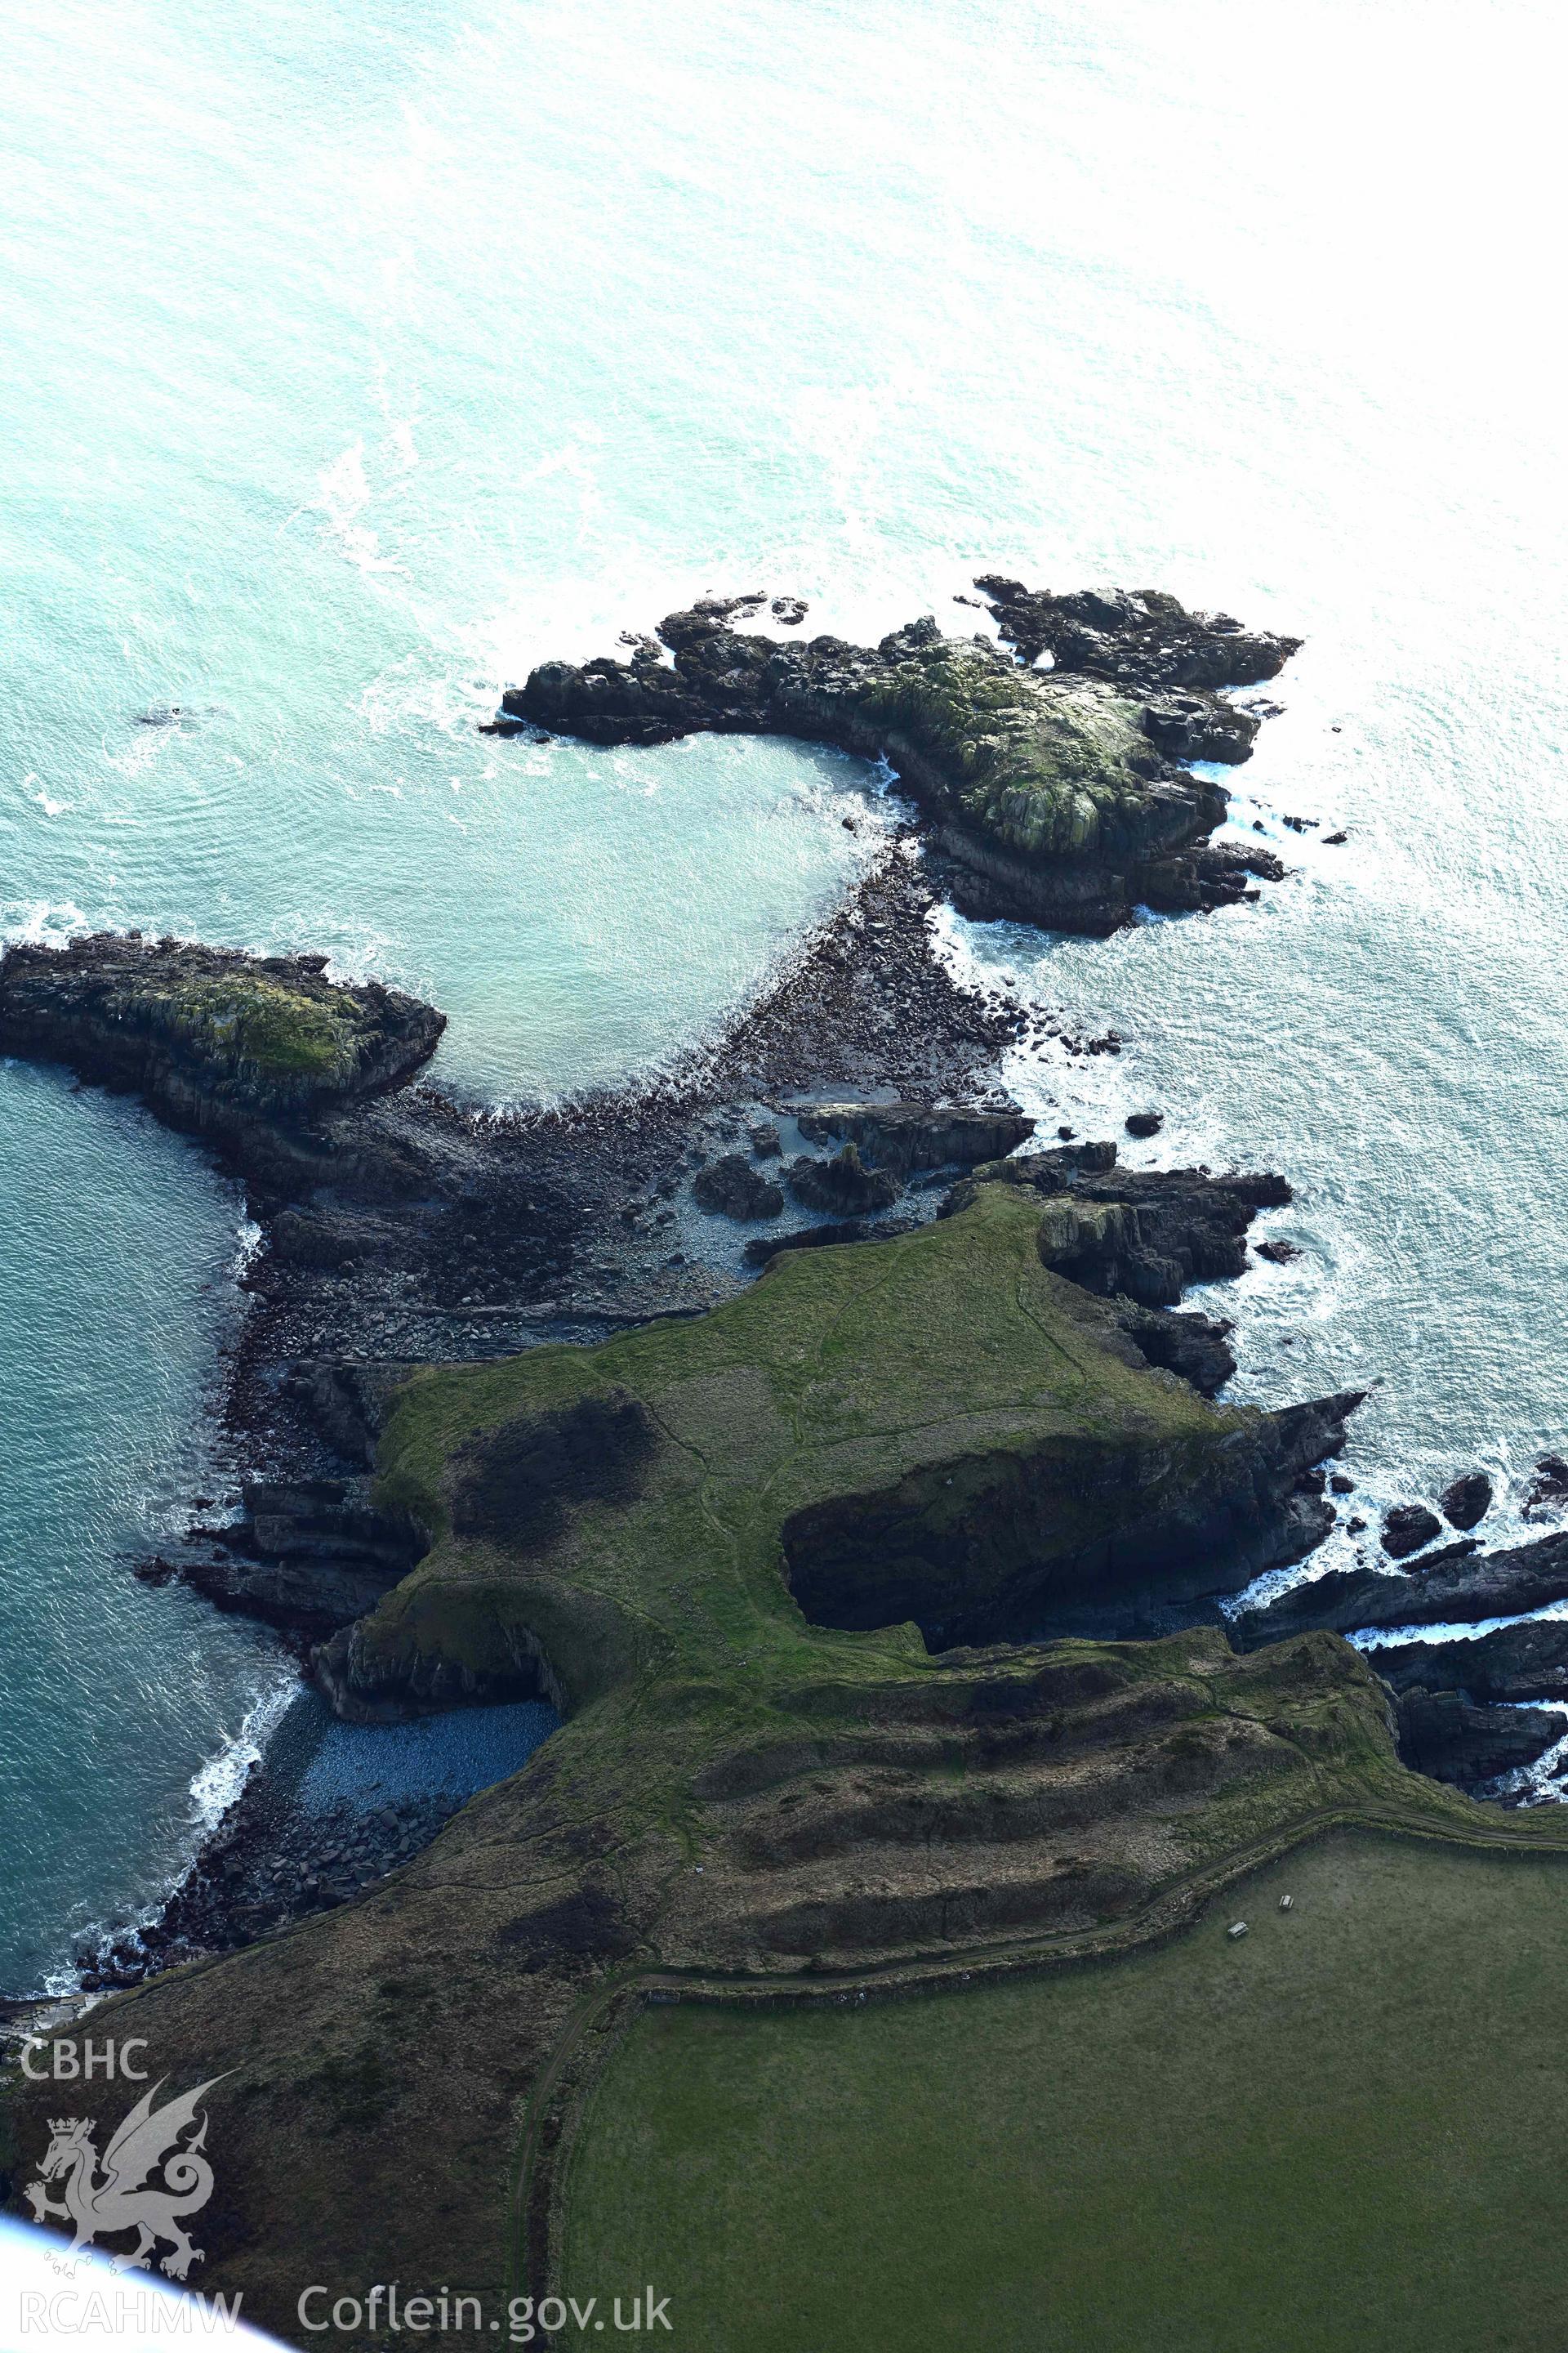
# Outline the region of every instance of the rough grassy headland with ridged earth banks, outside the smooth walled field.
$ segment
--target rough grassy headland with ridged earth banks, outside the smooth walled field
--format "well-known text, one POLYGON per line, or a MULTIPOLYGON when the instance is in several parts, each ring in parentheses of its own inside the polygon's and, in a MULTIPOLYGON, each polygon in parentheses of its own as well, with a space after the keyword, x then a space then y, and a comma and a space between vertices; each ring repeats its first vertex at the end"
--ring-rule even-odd
MULTIPOLYGON (((383 1482, 435 1546, 371 1621, 371 1645, 393 1659, 473 1647, 484 1664, 531 1631, 571 1713, 362 1901, 99 2014, 103 2033, 146 2038, 153 2073, 221 2078, 207 2289, 244 2287, 247 2313, 296 2337, 301 2280, 498 2287, 520 2266, 538 2287, 564 2280, 555 2151, 607 2049, 599 2031, 639 1979, 743 2000, 820 1993, 813 2031, 830 2033, 865 1974, 879 1988, 952 1981, 1138 1944, 1192 1889, 1331 1817, 1561 1840, 1561 1821, 1502 1817, 1403 1772, 1382 1692, 1335 1635, 1248 1657, 1218 1628, 929 1657, 910 1628, 802 1619, 778 1527, 813 1494, 926 1461, 931 1508, 947 1494, 957 1508, 976 1438, 1053 1435, 1103 1471, 1112 1431, 1145 1449, 1157 1497, 1161 1478, 1192 1473, 1182 1454, 1204 1464, 1246 1426, 1110 1351, 1105 1306, 1041 1268, 1034 1226, 1030 1200, 980 1188, 926 1233, 785 1259, 703 1320, 407 1386, 383 1482), (574 1506, 534 1551, 520 1534, 451 1534, 463 1447, 595 1386, 632 1388, 668 1433, 646 1492, 574 1506)), ((1119 1485, 1088 1485, 1081 1508, 1126 1511, 1119 1485)), ((886 2012, 905 2014, 940 2012, 886 2012)), ((922 2066, 910 2040, 896 2071, 919 2080, 922 2066)), ((668 2075, 654 2082, 649 2129, 679 2118, 679 2097, 668 2075)), ((872 2108, 884 2097, 867 2092, 872 2108)), ((49 2082, 16 2080, 0 2137, 35 2151, 56 2106, 49 2082)), ((903 2137, 875 2162, 903 2162, 903 2137)), ((849 2134, 842 2195, 809 2169, 799 2195, 769 2191, 785 2217, 769 2261, 809 2261, 877 2146, 849 2134)), ((595 2266, 616 2254, 599 2212, 590 2198, 595 2266)), ((790 2353, 806 2341, 783 2339, 790 2353)))

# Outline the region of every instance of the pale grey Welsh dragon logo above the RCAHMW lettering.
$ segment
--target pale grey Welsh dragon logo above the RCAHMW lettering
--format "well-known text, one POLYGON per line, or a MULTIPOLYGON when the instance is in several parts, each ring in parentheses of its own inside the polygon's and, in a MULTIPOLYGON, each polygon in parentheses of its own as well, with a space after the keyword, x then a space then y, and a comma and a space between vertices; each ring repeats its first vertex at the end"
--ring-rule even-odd
POLYGON ((153 2108, 167 2075, 150 2092, 143 2092, 125 2118, 113 2141, 103 2151, 94 2148, 96 2125, 92 2118, 49 2118, 54 2139, 45 2151, 40 2179, 28 2184, 33 2221, 56 2217, 75 2228, 71 2254, 92 2245, 94 2238, 113 2238, 118 2231, 134 2231, 136 2245, 129 2254, 113 2257, 115 2271, 150 2271, 153 2249, 169 2242, 162 2271, 172 2280, 183 2280, 193 2264, 202 2261, 202 2249, 190 2245, 183 2217, 195 2214, 212 2198, 212 2165, 202 2155, 207 2141, 207 2115, 200 2108, 214 2082, 200 2082, 195 2092, 153 2108), (200 2113, 200 2122, 197 2122, 200 2113), (186 2146, 181 2132, 197 2125, 186 2146), (162 2172, 162 2179, 155 2179, 162 2172), (61 2198, 49 2198, 49 2181, 63 2184, 61 2198))

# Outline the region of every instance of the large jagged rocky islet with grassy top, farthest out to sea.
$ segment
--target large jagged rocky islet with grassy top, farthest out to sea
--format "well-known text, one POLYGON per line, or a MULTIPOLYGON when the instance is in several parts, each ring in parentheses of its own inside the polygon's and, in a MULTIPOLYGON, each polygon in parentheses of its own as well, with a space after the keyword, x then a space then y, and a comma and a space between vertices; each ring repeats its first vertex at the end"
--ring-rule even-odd
POLYGON ((1133 908, 1201 911, 1279 878, 1267 849, 1213 847, 1218 784, 1190 760, 1246 760, 1258 715, 1220 689, 1272 678, 1295 638, 1248 633, 1159 591, 1048 598, 983 579, 1027 659, 910 621, 879 645, 776 642, 736 624, 759 595, 665 614, 630 656, 543 661, 508 687, 517 722, 592 744, 785 734, 886 758, 922 807, 954 904, 1070 932, 1133 908), (1051 649, 1051 668, 1037 656, 1051 649))

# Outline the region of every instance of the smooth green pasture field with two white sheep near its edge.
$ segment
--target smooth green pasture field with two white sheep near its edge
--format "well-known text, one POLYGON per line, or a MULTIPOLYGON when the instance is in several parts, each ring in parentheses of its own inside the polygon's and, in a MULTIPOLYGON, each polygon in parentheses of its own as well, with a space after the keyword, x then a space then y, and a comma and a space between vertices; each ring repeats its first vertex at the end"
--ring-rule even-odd
POLYGON ((1552 2353, 1566 2144, 1568 1857, 1338 1833, 1128 1960, 646 2012, 559 2285, 672 2353, 1552 2353))

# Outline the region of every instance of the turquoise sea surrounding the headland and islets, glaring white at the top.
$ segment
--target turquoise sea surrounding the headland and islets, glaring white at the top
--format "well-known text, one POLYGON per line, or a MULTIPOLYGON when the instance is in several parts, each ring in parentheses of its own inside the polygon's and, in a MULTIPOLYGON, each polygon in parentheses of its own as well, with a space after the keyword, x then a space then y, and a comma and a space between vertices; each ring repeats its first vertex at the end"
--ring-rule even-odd
MULTIPOLYGON (((531 659, 703 588, 973 626, 976 569, 1305 633, 1239 816, 1345 849, 954 953, 1128 1035, 1041 1111, 1298 1181, 1244 1395, 1380 1379, 1373 1501, 1519 1471, 1568 1440, 1559 87, 1509 0, 7 12, 5 927, 327 948, 447 1007, 449 1085, 559 1094, 679 1052, 872 833, 820 753, 475 736, 531 659)), ((16 1068, 0 1202, 26 1984, 282 1666, 120 1565, 195 1475, 237 1202, 16 1068)))

